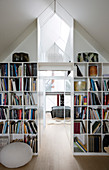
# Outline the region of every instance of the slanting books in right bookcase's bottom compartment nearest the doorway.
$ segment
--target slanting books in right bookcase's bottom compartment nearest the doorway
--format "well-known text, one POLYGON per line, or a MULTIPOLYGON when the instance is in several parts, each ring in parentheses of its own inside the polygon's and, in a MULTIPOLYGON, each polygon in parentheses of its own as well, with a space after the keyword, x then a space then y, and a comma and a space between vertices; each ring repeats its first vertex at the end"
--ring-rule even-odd
POLYGON ((76 136, 74 137, 74 152, 87 152, 87 146, 82 143, 82 141, 76 136))

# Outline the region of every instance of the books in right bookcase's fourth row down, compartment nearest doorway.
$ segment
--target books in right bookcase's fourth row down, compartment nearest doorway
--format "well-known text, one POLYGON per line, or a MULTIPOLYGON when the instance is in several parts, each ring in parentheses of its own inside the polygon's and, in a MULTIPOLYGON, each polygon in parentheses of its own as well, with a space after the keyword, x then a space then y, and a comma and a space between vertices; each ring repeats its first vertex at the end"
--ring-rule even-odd
POLYGON ((87 108, 86 107, 74 107, 74 119, 86 119, 87 108))

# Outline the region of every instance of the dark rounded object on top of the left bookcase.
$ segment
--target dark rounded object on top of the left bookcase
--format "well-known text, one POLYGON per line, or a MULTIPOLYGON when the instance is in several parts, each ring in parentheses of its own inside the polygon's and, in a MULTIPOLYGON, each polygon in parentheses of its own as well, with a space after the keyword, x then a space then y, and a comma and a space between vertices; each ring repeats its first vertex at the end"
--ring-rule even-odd
POLYGON ((28 62, 29 61, 29 55, 27 53, 14 53, 12 55, 12 61, 13 62, 28 62))

